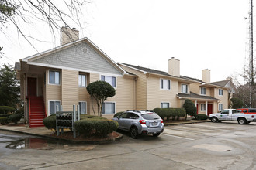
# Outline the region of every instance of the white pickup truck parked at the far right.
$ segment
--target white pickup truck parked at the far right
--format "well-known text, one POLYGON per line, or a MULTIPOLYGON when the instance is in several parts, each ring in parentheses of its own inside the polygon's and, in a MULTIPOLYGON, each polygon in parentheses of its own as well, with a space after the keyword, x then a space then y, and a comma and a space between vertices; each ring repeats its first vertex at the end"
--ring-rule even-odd
POLYGON ((244 114, 235 109, 225 109, 217 114, 209 114, 209 119, 212 122, 237 121, 238 124, 249 124, 251 121, 256 121, 256 114, 244 114))

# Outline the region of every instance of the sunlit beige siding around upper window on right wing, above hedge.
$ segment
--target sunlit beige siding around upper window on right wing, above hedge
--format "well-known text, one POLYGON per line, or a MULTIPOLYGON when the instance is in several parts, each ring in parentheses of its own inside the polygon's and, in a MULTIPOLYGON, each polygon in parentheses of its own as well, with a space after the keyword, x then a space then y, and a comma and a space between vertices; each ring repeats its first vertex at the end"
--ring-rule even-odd
POLYGON ((165 80, 171 80, 171 90, 161 90, 161 78, 160 76, 149 76, 147 78, 147 110, 161 107, 161 102, 168 102, 171 107, 180 107, 176 97, 178 81, 164 78, 165 80))

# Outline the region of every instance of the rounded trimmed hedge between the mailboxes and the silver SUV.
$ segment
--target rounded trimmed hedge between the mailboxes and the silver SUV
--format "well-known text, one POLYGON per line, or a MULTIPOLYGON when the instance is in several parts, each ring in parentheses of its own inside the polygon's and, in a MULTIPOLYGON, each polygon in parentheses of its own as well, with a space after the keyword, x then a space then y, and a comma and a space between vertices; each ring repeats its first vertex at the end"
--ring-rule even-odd
POLYGON ((119 124, 116 121, 99 118, 90 118, 74 122, 75 129, 85 136, 106 136, 116 131, 119 124))

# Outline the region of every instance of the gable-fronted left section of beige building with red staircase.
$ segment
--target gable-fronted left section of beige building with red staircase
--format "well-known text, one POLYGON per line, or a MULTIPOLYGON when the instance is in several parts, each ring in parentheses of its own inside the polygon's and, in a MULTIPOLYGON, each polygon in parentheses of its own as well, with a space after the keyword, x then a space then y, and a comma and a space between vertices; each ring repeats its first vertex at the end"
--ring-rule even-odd
POLYGON ((43 125, 43 118, 56 113, 61 105, 67 111, 79 104, 82 114, 93 114, 86 86, 96 80, 105 80, 116 90, 116 96, 103 105, 103 116, 136 109, 133 91, 137 76, 126 73, 88 38, 78 39, 72 32, 78 35, 77 30, 62 28, 61 42, 66 44, 16 63, 20 97, 31 127, 43 125), (74 42, 67 41, 67 31, 74 42))

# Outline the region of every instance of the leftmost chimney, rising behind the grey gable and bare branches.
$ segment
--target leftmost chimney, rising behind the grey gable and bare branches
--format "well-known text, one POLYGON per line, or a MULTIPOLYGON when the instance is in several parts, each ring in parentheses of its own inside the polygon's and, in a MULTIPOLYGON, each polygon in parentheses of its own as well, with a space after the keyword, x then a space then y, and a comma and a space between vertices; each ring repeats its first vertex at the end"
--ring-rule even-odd
POLYGON ((79 31, 75 28, 71 29, 67 26, 61 28, 61 45, 74 42, 79 39, 79 31))

